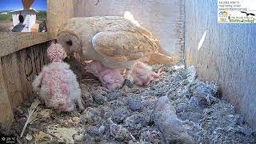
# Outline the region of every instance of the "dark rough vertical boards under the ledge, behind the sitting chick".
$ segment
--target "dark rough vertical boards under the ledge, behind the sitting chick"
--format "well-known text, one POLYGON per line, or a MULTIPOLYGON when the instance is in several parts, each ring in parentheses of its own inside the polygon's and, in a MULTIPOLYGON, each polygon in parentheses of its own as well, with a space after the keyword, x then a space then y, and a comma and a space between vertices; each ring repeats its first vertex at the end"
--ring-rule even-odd
POLYGON ((2 57, 2 73, 10 106, 16 108, 32 94, 31 83, 41 71, 50 42, 30 46, 13 54, 2 57))

